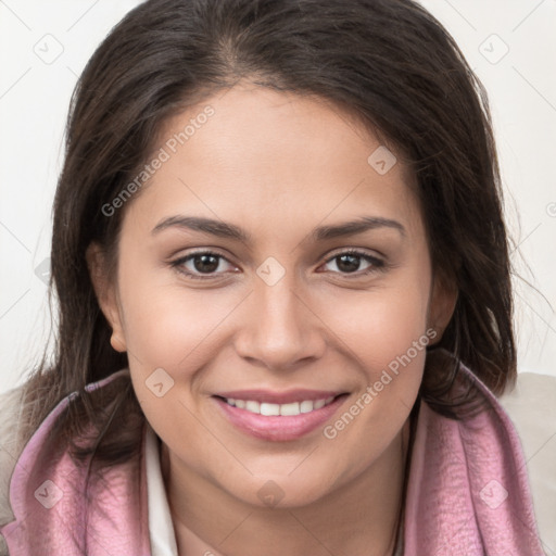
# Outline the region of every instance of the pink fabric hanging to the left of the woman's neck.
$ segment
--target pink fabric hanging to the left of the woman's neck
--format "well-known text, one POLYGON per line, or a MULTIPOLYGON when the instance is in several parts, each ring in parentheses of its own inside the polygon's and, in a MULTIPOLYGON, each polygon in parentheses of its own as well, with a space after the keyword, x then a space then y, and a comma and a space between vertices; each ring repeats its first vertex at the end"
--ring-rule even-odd
MULTIPOLYGON (((102 388, 123 372, 87 390, 102 388)), ((71 397, 45 419, 15 466, 10 483, 15 521, 0 528, 10 556, 151 556, 144 435, 140 460, 106 470, 87 495, 87 466, 76 465, 66 445, 49 442, 49 432, 71 397)))

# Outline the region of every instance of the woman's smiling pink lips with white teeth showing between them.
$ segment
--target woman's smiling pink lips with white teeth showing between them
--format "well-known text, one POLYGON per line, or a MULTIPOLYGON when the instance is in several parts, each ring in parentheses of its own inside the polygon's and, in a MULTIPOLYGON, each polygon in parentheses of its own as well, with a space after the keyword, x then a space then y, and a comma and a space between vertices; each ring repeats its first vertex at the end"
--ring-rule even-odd
POLYGON ((324 425, 346 397, 344 392, 262 390, 213 396, 225 417, 243 433, 268 441, 296 440, 324 425))

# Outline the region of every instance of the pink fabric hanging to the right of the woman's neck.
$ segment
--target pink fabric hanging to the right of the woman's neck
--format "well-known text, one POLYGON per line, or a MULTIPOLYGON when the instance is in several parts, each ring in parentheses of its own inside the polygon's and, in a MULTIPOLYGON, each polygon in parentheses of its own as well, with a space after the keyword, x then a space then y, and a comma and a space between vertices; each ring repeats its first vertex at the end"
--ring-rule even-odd
POLYGON ((405 556, 544 556, 514 425, 462 366, 486 409, 455 421, 421 403, 406 498, 405 556))

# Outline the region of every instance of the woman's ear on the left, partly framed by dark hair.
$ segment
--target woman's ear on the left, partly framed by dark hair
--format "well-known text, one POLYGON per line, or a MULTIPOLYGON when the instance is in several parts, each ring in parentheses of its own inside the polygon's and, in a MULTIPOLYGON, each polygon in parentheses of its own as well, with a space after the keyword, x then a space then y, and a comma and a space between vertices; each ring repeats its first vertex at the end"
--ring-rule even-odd
POLYGON ((110 343, 115 351, 125 352, 127 346, 122 311, 117 298, 117 287, 115 280, 109 276, 104 251, 98 243, 93 242, 87 248, 85 257, 99 306, 112 327, 110 343))

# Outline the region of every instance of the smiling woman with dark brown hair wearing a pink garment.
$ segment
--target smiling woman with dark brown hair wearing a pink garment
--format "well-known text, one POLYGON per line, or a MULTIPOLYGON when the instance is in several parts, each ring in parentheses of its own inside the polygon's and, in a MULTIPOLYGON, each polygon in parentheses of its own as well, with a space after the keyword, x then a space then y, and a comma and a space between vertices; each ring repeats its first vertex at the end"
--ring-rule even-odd
POLYGON ((542 554, 501 203, 417 4, 130 12, 72 103, 9 554, 542 554))

